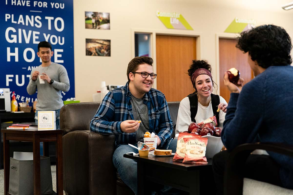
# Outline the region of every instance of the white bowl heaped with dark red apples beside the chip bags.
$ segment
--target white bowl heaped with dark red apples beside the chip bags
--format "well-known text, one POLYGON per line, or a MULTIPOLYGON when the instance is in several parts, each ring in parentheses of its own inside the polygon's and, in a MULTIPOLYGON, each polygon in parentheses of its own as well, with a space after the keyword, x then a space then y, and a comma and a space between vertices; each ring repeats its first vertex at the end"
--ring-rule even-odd
POLYGON ((207 150, 205 156, 207 158, 213 158, 213 156, 220 152, 224 144, 221 139, 222 128, 215 127, 212 123, 206 123, 202 127, 197 123, 193 122, 188 127, 189 133, 195 133, 206 137, 207 140, 207 150))

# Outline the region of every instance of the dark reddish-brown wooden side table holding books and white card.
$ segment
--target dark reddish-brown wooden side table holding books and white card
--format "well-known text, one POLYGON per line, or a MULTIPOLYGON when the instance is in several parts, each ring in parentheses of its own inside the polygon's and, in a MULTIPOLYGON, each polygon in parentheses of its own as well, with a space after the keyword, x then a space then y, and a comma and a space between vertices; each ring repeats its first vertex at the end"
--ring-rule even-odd
POLYGON ((4 149, 4 194, 9 195, 9 140, 33 142, 34 195, 40 195, 40 142, 56 142, 56 179, 57 194, 63 195, 63 162, 62 132, 63 130, 1 130, 4 149))

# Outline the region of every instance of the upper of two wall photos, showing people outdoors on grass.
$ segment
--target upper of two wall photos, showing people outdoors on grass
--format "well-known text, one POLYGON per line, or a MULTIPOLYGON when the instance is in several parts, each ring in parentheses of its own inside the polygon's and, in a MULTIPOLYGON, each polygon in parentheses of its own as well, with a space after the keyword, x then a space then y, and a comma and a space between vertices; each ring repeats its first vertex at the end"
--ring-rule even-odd
POLYGON ((110 13, 85 12, 86 28, 110 30, 110 13))

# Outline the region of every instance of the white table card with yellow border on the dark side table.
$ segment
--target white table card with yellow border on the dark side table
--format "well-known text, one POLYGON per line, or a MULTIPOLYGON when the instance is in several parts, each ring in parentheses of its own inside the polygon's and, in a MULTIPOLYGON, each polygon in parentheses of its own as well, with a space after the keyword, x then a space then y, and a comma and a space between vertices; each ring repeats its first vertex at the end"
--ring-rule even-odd
POLYGON ((56 130, 55 111, 38 111, 38 130, 56 130))

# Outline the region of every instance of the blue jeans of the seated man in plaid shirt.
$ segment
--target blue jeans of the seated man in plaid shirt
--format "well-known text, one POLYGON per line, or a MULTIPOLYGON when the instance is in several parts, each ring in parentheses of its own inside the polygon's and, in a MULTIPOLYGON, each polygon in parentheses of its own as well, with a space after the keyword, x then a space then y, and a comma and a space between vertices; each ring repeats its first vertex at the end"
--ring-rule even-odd
MULTIPOLYGON (((137 144, 136 144, 137 146, 137 144)), ((172 150, 173 153, 176 152, 177 139, 171 139, 166 142, 159 149, 168 149, 172 150)), ((134 161, 130 158, 124 158, 123 154, 128 152, 138 153, 138 150, 129 146, 129 145, 120 145, 114 151, 113 154, 113 164, 117 168, 119 176, 122 181, 137 194, 137 161, 134 161)))

